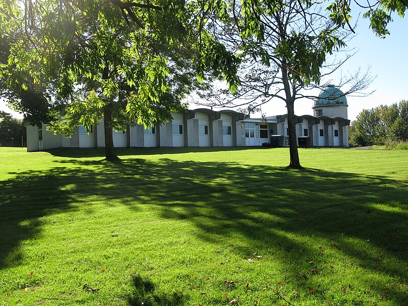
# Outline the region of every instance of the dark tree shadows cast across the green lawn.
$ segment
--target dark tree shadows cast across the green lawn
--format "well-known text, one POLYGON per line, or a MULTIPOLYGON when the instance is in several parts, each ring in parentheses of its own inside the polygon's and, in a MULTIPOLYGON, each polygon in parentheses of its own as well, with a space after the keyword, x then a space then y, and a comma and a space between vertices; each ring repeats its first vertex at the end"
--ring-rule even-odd
MULTIPOLYGON (((62 166, 15 173, 0 183, 1 268, 20 263, 19 246, 41 234, 42 216, 81 209, 89 197, 98 195, 107 206, 115 200, 130 210, 147 206, 161 218, 187 220, 197 228, 192 235, 206 242, 225 244, 239 234, 248 247, 285 254, 288 264, 283 266, 291 274, 310 270, 305 259, 312 260, 319 251, 315 237, 327 241, 324 251, 351 258, 354 265, 370 263, 362 269, 400 282, 408 279, 407 182, 223 162, 127 159, 111 164, 74 158, 57 162, 62 166), (367 252, 365 244, 382 255, 367 252), (384 257, 401 266, 388 264, 384 257), (299 261, 296 268, 289 265, 299 261)), ((316 262, 316 267, 324 264, 316 262)), ((131 304, 146 296, 158 305, 185 303, 182 295, 154 297, 143 282, 134 281, 131 304)), ((309 290, 308 281, 299 277, 297 282, 309 290)), ((398 301, 406 297, 395 288, 390 291, 398 301)))

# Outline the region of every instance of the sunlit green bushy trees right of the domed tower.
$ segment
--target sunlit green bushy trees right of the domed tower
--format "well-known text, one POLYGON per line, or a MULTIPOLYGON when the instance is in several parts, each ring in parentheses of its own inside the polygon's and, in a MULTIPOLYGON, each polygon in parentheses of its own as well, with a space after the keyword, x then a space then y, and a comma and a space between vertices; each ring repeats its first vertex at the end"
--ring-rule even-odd
POLYGON ((363 110, 349 130, 351 146, 408 141, 408 101, 363 110))

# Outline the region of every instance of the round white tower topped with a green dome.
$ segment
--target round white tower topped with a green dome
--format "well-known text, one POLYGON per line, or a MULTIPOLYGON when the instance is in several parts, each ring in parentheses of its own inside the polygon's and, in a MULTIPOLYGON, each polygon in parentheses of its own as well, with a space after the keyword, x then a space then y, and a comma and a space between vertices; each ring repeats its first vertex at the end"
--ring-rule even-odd
POLYGON ((347 119, 347 98, 334 85, 327 85, 314 101, 313 114, 315 117, 327 116, 347 119))

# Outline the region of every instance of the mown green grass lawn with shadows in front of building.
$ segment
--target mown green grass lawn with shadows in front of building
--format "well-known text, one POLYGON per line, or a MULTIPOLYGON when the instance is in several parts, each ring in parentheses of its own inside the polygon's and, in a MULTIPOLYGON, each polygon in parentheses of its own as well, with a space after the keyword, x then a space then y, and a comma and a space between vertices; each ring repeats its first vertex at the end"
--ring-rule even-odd
POLYGON ((408 151, 0 148, 1 305, 408 305, 408 151))

